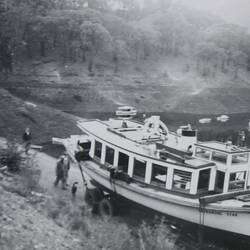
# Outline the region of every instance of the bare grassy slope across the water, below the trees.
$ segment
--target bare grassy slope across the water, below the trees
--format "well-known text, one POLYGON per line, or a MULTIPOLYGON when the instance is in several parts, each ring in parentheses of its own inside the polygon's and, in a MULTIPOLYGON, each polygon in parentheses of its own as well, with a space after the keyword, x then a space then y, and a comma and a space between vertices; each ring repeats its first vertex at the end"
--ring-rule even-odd
POLYGON ((148 59, 123 65, 118 73, 100 64, 89 76, 84 64, 60 65, 33 62, 16 69, 5 84, 14 95, 71 113, 113 112, 119 105, 133 105, 142 112, 196 114, 242 113, 250 110, 249 75, 217 74, 203 78, 190 67, 190 59, 148 59), (26 72, 24 75, 23 72, 26 72), (20 82, 20 84, 17 84, 20 82))

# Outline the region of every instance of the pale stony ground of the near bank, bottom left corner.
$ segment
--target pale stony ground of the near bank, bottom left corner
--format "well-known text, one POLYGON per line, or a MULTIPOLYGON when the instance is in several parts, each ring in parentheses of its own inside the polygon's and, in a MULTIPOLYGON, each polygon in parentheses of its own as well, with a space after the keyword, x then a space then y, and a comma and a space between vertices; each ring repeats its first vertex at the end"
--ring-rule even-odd
POLYGON ((39 213, 27 199, 3 189, 2 178, 1 176, 1 250, 82 249, 80 240, 39 213))

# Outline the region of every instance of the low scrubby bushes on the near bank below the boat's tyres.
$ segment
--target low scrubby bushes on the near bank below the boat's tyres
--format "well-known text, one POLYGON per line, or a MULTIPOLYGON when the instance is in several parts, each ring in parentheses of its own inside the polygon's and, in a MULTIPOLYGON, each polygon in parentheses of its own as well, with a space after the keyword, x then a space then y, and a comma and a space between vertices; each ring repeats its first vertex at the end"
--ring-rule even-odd
POLYGON ((72 203, 67 197, 49 200, 43 211, 47 211, 57 224, 82 237, 88 250, 182 249, 176 244, 178 235, 173 234, 163 220, 155 220, 153 226, 142 223, 132 229, 118 218, 107 222, 99 216, 93 216, 85 207, 72 203))

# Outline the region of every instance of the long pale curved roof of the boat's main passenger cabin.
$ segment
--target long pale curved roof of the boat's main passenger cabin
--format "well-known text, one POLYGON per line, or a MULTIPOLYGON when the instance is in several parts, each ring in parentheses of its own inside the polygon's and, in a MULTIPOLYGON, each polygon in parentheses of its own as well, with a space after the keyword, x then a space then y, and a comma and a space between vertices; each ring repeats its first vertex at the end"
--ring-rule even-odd
POLYGON ((122 127, 122 122, 122 120, 105 122, 90 120, 79 122, 78 127, 97 139, 131 153, 162 161, 167 159, 169 162, 172 161, 193 169, 214 165, 206 160, 188 156, 187 152, 178 144, 179 136, 173 132, 169 133, 167 138, 162 138, 159 135, 152 135, 138 122, 126 121, 126 128, 122 127), (172 152, 171 148, 174 148, 175 152, 172 152))

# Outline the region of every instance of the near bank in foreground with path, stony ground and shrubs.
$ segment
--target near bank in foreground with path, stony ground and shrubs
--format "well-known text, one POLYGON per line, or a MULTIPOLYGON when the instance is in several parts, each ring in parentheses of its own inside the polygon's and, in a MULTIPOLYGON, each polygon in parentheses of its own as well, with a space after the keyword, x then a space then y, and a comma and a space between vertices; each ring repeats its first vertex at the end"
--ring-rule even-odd
POLYGON ((84 202, 85 190, 73 163, 68 183, 79 181, 75 199, 69 190, 51 185, 56 158, 34 151, 23 157, 18 172, 3 172, 0 165, 1 250, 197 249, 195 242, 191 247, 179 239, 169 223, 159 219, 155 219, 159 227, 142 223, 145 216, 153 221, 145 210, 125 206, 128 216, 136 218, 133 224, 122 217, 109 220, 93 214, 84 202))

